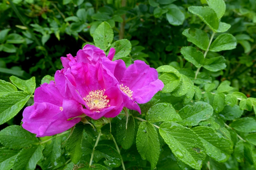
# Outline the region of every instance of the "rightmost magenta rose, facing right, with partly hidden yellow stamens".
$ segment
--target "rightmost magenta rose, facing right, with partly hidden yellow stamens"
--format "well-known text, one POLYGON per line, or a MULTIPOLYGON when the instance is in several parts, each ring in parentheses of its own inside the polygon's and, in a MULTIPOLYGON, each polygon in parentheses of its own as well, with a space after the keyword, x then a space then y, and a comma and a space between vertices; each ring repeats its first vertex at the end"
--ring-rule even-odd
POLYGON ((123 60, 116 60, 114 64, 103 58, 102 64, 111 70, 117 79, 123 94, 124 106, 141 113, 137 103, 147 103, 158 91, 162 90, 163 82, 158 79, 158 72, 150 68, 144 61, 136 60, 126 68, 123 60))

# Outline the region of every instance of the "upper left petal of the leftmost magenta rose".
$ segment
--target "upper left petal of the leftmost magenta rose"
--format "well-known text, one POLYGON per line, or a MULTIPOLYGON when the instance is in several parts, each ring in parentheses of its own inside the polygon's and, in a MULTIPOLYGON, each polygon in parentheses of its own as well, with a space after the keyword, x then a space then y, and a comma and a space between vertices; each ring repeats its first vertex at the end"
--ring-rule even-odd
POLYGON ((56 87, 54 81, 50 81, 50 84, 43 83, 41 87, 35 90, 34 101, 38 103, 51 103, 57 106, 62 106, 63 96, 56 87))

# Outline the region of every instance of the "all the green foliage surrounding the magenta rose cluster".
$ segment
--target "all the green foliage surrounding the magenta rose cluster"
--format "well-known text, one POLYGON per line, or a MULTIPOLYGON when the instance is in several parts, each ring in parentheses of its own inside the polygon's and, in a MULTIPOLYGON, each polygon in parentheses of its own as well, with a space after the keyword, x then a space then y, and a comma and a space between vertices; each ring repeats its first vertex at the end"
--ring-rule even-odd
POLYGON ((0 32, 0 124, 10 125, 0 131, 0 169, 256 169, 256 99, 249 96, 255 88, 256 4, 201 4, 0 3, 1 22, 11 16, 15 24, 0 32), (87 43, 106 53, 115 48, 113 60, 127 66, 139 59, 157 68, 164 88, 140 105, 141 115, 124 109, 112 119, 85 117, 69 131, 42 138, 13 125, 33 104, 36 84, 54 80, 59 57, 87 43))

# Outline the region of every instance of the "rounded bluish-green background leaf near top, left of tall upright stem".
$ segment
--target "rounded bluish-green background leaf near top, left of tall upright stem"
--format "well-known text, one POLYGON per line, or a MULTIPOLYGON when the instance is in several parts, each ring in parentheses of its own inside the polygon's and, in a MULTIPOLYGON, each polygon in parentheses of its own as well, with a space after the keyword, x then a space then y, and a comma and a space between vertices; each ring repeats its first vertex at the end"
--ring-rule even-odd
POLYGON ((168 5, 168 12, 166 13, 167 21, 172 25, 182 25, 185 20, 185 15, 181 12, 179 7, 174 4, 168 5))

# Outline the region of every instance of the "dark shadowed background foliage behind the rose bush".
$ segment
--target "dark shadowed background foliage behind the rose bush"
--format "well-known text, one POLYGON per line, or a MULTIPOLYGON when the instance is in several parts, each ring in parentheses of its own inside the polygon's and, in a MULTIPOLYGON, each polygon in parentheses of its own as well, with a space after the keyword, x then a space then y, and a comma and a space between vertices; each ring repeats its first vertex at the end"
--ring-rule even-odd
MULTIPOLYGON (((55 71, 62 68, 61 56, 68 53, 76 56, 85 43, 93 42, 93 33, 102 21, 111 25, 114 41, 123 38, 130 40, 132 49, 125 60, 127 64, 139 59, 154 68, 171 65, 176 69, 196 70, 180 53, 182 47, 193 46, 182 32, 187 28, 192 31, 200 28, 209 36, 211 34, 202 20, 188 12, 190 6, 207 6, 205 0, 158 0, 156 6, 153 0, 12 2, 0 2, 0 79, 9 81, 12 75, 22 79, 34 76, 36 87, 45 75, 54 76, 55 71), (164 6, 170 3, 178 8, 172 13, 174 17, 168 17, 164 10, 164 6), (7 31, 4 33, 3 30, 7 31)), ((224 70, 210 72, 202 69, 202 72, 213 80, 229 80, 230 86, 237 91, 245 93, 247 97, 256 97, 256 1, 227 0, 225 3, 226 12, 221 21, 231 25, 227 33, 236 37, 238 45, 233 50, 219 52, 226 59, 227 67, 224 70)), ((214 53, 209 52, 208 55, 214 56, 214 53)), ((32 103, 33 99, 29 99, 26 105, 32 103)), ((13 119, 0 125, 0 129, 20 125, 23 109, 13 119)), ((250 114, 254 115, 245 113, 250 114)), ((165 157, 163 154, 163 162, 165 157)), ((143 162, 140 155, 135 155, 135 158, 143 162)), ((231 161, 237 164, 235 160, 231 161)), ((226 163, 225 167, 247 168, 243 164, 229 167, 231 164, 226 163)), ((37 168, 40 169, 39 166, 37 168)), ((210 169, 207 166, 203 168, 210 169)))

